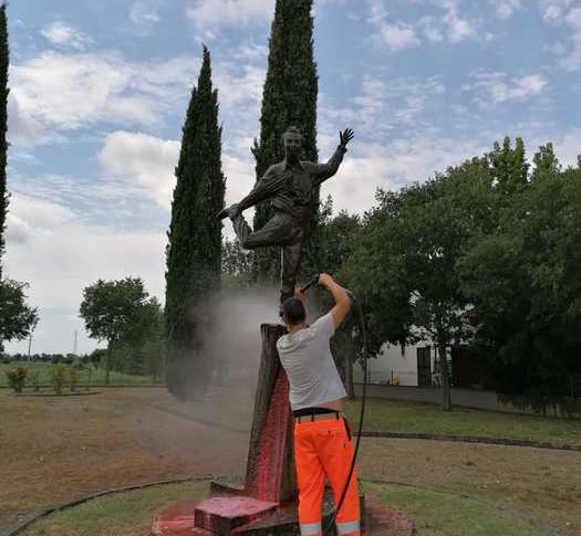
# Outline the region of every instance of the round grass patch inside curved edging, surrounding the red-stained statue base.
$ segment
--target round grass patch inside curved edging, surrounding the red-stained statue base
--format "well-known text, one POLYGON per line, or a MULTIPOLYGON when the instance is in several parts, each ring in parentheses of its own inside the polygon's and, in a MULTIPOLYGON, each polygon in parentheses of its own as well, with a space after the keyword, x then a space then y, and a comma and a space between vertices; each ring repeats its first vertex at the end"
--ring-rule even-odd
MULTIPOLYGON (((169 484, 100 497, 52 514, 31 525, 23 536, 146 536, 153 516, 166 504, 196 498, 207 482, 169 484)), ((477 498, 419 487, 364 483, 367 496, 404 509, 417 536, 543 536, 547 530, 518 513, 501 511, 477 498)))

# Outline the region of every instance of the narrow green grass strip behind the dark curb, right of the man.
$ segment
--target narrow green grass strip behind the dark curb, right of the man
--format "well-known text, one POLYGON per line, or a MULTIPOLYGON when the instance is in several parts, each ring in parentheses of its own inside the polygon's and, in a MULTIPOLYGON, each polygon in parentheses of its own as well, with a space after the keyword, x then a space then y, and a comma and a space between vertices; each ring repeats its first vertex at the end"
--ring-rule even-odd
MULTIPOLYGON (((360 401, 349 402, 347 416, 359 422, 360 401)), ((419 432, 449 435, 512 438, 554 443, 581 444, 581 421, 508 414, 394 400, 369 399, 365 409, 367 431, 419 432)))

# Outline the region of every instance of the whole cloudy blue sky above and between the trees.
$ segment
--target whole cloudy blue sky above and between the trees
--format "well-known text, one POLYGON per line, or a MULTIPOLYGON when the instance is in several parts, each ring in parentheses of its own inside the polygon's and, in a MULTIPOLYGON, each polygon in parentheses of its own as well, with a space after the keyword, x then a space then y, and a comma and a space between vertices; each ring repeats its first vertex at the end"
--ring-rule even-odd
MULTIPOLYGON (((325 186, 363 212, 505 135, 531 157, 581 153, 581 0, 315 0, 319 149, 355 139, 325 186)), ((77 317, 98 277, 142 276, 163 299, 181 124, 212 55, 227 202, 253 183, 273 0, 18 0, 8 8, 8 275, 30 282, 32 351, 95 341, 77 317)), ((229 224, 225 233, 231 235, 229 224)), ((7 345, 23 351, 27 343, 7 345)))

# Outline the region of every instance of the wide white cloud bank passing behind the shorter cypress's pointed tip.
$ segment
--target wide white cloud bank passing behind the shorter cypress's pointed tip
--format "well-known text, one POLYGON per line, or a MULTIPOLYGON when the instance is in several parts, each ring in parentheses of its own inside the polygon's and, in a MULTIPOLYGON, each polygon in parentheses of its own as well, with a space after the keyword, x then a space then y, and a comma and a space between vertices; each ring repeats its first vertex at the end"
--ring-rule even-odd
MULTIPOLYGON (((43 52, 11 69, 11 134, 35 138, 98 122, 155 127, 169 114, 183 117, 198 69, 193 57, 128 62, 112 52, 43 52)), ((253 128, 248 116, 258 113, 264 66, 227 61, 212 70, 220 109, 253 128)))

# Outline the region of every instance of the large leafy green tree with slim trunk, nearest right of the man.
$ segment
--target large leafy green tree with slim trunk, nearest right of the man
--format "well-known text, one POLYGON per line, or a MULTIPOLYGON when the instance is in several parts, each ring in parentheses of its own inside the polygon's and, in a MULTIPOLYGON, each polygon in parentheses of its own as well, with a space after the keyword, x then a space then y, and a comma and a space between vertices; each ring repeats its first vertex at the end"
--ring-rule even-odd
POLYGON ((487 159, 474 158, 424 185, 380 191, 344 269, 366 312, 372 350, 433 341, 444 410, 452 407, 446 347, 473 335, 457 263, 475 235, 495 227, 494 182, 487 159))

